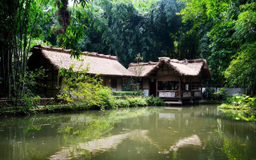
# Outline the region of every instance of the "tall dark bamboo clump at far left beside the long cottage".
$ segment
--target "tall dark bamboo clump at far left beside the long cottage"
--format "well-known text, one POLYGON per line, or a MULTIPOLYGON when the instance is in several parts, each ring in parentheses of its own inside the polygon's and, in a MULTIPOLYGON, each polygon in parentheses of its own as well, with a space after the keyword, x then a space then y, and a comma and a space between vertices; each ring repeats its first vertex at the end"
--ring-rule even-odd
POLYGON ((44 39, 40 24, 48 18, 43 6, 48 1, 4 0, 0 2, 0 97, 19 96, 25 92, 24 77, 29 48, 35 40, 44 39))

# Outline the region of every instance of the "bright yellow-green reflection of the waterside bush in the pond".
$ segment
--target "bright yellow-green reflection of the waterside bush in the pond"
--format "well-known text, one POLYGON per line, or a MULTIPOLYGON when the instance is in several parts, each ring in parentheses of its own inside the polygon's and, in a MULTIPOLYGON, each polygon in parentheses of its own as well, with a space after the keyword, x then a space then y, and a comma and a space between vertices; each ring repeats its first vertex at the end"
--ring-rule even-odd
POLYGON ((68 123, 59 127, 58 134, 65 138, 67 143, 72 144, 92 139, 95 140, 109 133, 119 120, 150 115, 151 112, 152 111, 147 108, 118 109, 106 111, 106 113, 97 116, 91 116, 87 121, 82 123, 79 122, 79 120, 83 120, 83 117, 81 117, 83 115, 74 115, 68 123))

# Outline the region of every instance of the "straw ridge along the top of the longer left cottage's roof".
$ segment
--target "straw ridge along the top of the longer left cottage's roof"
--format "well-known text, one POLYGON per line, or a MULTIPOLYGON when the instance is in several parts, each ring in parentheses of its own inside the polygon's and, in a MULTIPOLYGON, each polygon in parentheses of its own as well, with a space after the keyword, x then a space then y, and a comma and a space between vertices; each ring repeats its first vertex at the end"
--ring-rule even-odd
MULTIPOLYGON (((63 48, 53 48, 52 45, 51 46, 42 46, 41 44, 35 45, 32 49, 31 52, 33 52, 33 49, 40 49, 40 50, 46 50, 46 51, 52 51, 52 52, 62 52, 62 53, 67 53, 70 54, 70 51, 72 51, 72 49, 63 49, 63 48)), ((105 54, 99 54, 97 52, 88 52, 88 51, 84 51, 83 52, 84 56, 92 56, 92 57, 97 57, 97 58, 106 58, 106 59, 110 59, 110 60, 116 60, 117 61, 117 56, 111 56, 109 55, 105 55, 105 54)))

